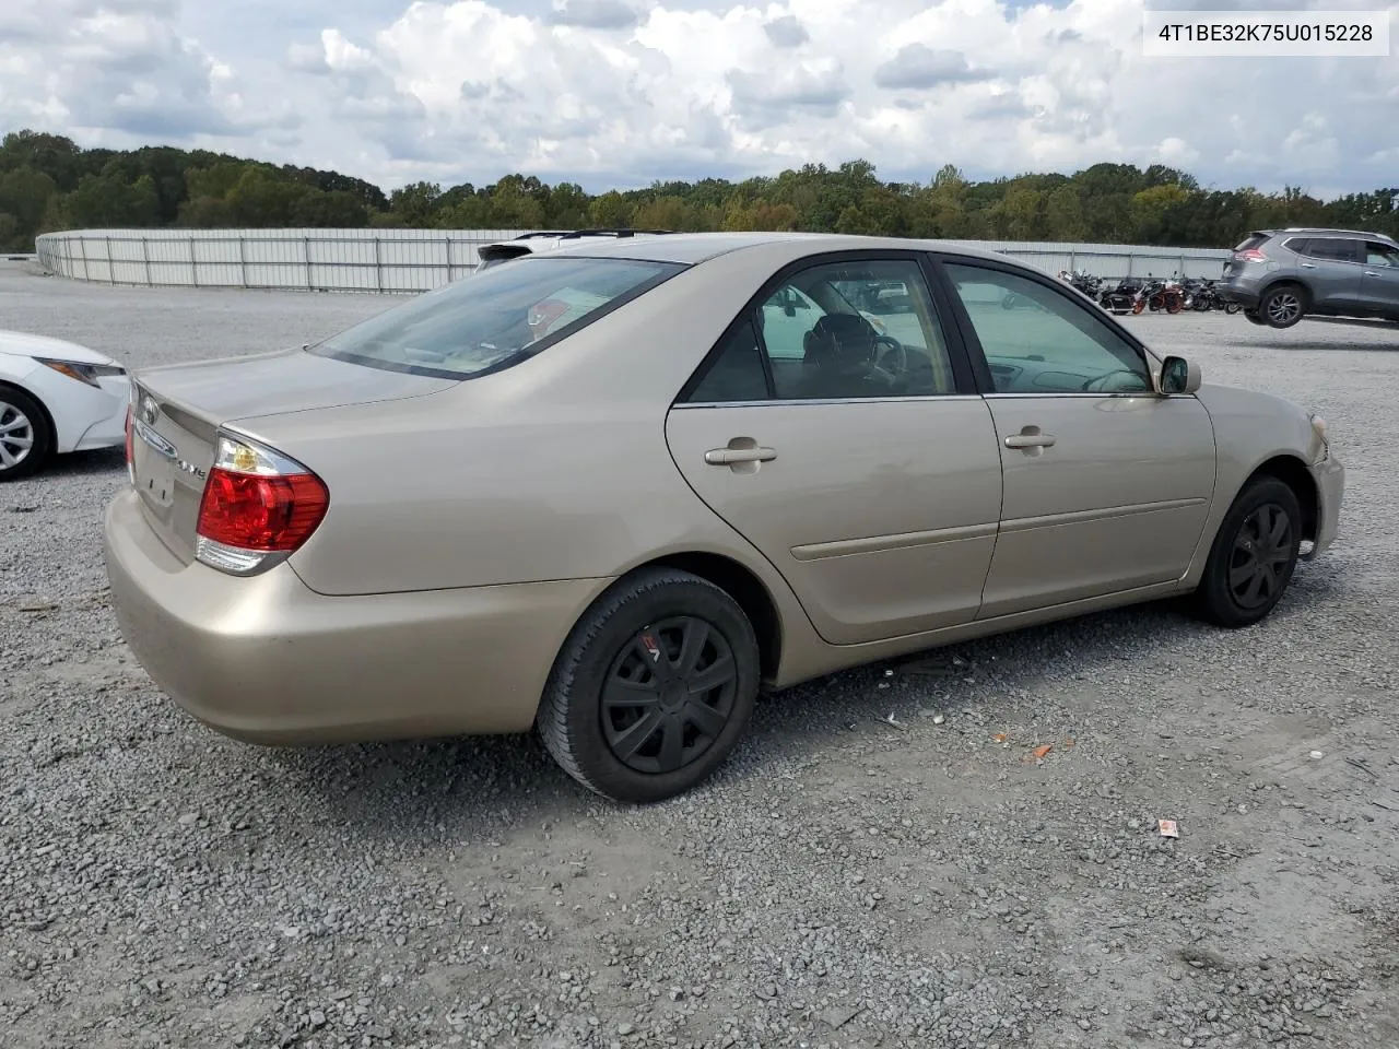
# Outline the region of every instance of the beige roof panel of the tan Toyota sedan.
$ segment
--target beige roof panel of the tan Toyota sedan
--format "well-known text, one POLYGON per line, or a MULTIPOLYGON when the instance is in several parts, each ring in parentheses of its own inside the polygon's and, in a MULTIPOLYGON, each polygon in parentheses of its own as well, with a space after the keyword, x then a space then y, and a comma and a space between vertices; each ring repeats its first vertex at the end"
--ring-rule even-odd
POLYGON ((901 236, 855 236, 846 234, 750 232, 750 234, 670 234, 645 239, 596 241, 569 245, 541 255, 582 256, 590 259, 635 259, 694 266, 730 252, 788 245, 793 259, 818 252, 848 252, 886 248, 900 252, 946 252, 974 259, 1013 262, 1004 255, 953 241, 912 241, 901 236))

